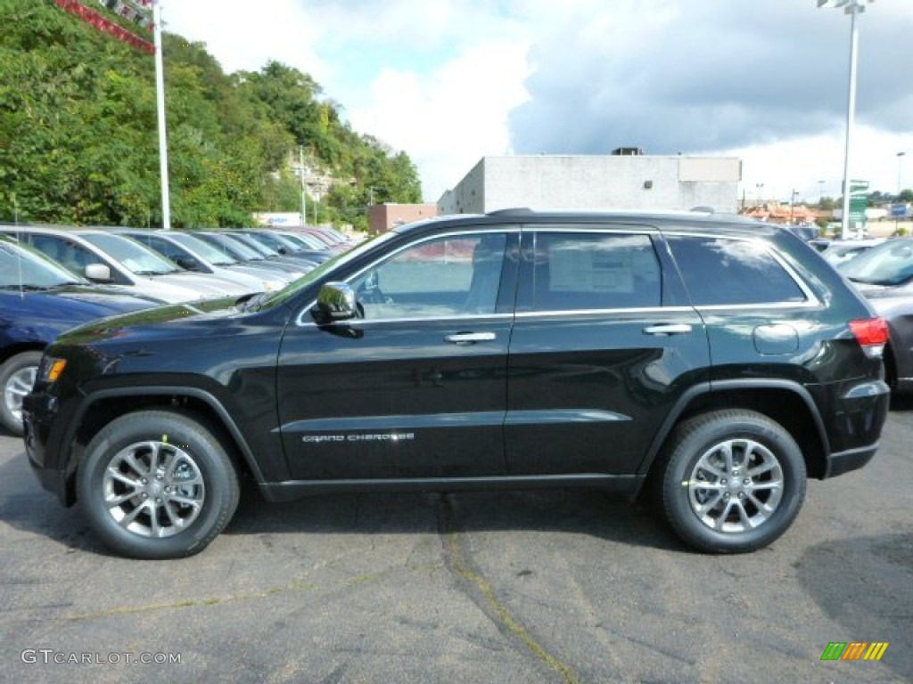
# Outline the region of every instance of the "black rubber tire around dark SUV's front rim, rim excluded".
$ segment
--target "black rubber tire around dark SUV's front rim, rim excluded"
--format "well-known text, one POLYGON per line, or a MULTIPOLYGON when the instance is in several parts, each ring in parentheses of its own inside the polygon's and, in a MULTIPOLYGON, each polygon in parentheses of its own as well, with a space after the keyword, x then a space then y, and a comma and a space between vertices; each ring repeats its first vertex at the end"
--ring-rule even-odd
POLYGON ((169 411, 143 411, 123 416, 89 442, 77 473, 79 501, 89 523, 113 550, 142 559, 183 558, 202 551, 231 519, 238 501, 237 475, 225 450, 205 426, 169 411), (196 520, 171 537, 151 539, 121 527, 103 498, 103 479, 118 451, 142 440, 168 436, 194 459, 205 486, 205 500, 196 520))

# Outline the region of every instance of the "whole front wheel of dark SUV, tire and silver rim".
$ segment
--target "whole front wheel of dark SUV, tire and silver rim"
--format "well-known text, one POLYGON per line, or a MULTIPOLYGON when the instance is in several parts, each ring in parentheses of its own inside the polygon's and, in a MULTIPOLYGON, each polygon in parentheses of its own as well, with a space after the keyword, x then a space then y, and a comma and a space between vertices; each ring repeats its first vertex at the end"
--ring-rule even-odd
POLYGON ((214 430, 167 410, 129 413, 100 430, 79 463, 77 492, 105 544, 149 560, 203 551, 239 498, 235 465, 214 430))

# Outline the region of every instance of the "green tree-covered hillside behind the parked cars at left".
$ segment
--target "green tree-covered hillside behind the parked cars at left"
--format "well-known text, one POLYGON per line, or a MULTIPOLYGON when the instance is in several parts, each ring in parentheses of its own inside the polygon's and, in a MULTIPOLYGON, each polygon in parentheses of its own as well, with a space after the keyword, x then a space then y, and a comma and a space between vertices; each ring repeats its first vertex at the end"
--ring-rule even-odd
MULTIPOLYGON (((161 225, 152 57, 54 0, 0 0, 0 22, 0 222, 161 225)), ((226 74, 167 32, 163 59, 173 227, 300 211, 302 147, 329 179, 310 222, 316 209, 363 228, 371 199, 421 202, 409 157, 352 130, 310 75, 278 62, 226 74)))

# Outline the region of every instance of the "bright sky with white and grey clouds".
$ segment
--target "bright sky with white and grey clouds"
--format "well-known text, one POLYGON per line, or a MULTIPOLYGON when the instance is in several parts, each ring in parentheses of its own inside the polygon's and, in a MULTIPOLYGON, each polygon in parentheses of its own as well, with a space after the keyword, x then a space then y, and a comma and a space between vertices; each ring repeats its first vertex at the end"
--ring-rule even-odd
MULTIPOLYGON (((722 154, 754 201, 835 196, 850 17, 815 0, 162 0, 227 73, 309 73, 436 201, 483 156, 722 154)), ((859 16, 851 175, 913 187, 913 0, 859 16), (897 152, 907 152, 898 157, 897 152)))

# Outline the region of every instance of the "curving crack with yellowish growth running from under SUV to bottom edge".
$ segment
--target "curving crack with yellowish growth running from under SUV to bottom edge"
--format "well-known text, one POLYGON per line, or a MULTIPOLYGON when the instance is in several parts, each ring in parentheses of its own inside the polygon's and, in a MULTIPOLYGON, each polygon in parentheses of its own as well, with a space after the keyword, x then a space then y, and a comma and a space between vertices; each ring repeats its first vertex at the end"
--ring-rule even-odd
POLYGON ((498 598, 488 578, 472 563, 466 543, 467 535, 456 524, 456 513, 450 497, 442 495, 440 502, 438 530, 443 543, 444 560, 457 584, 501 633, 519 642, 535 658, 557 672, 566 684, 579 684, 581 679, 573 668, 542 646, 498 598))

